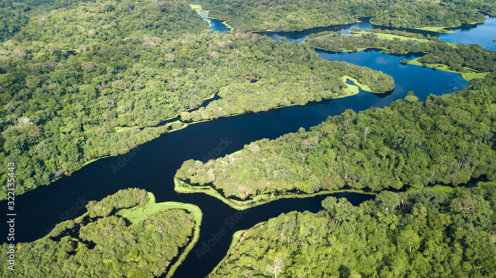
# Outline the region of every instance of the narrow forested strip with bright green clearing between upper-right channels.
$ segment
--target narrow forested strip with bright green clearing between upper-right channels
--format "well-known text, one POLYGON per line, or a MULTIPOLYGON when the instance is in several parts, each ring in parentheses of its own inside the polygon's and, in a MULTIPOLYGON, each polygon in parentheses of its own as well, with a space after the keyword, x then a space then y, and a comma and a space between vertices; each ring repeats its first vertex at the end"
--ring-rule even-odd
POLYGON ((439 40, 437 37, 422 37, 401 31, 383 31, 379 29, 367 29, 360 31, 362 34, 340 35, 328 34, 320 37, 312 37, 307 42, 316 48, 332 51, 357 51, 368 47, 383 48, 387 53, 426 53, 419 62, 426 64, 444 64, 450 70, 457 72, 469 72, 467 68, 482 72, 493 72, 496 70, 496 51, 471 44, 451 44, 439 40), (384 36, 387 35, 387 36, 384 36), (395 38, 399 36, 400 38, 395 38), (413 37, 412 37, 413 36, 413 37), (409 38, 409 40, 403 40, 409 38), (418 40, 418 41, 417 41, 418 40))

